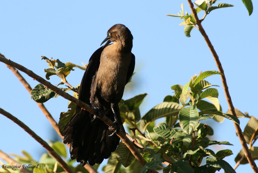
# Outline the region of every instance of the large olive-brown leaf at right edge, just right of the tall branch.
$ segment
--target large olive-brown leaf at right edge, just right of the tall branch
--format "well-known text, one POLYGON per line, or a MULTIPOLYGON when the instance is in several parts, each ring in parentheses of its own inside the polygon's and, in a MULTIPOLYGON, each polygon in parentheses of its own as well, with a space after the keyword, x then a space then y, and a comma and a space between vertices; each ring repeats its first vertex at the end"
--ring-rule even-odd
POLYGON ((250 141, 251 138, 252 140, 254 140, 256 139, 257 136, 258 136, 258 119, 251 116, 244 130, 244 137, 247 144, 250 145, 250 143, 252 142, 250 141))

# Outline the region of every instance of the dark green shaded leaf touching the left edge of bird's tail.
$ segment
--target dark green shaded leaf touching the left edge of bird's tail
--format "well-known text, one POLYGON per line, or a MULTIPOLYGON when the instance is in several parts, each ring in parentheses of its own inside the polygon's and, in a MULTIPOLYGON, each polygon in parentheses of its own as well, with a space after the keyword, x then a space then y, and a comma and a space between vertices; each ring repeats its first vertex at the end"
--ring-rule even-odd
POLYGON ((71 102, 68 105, 68 108, 69 108, 69 110, 67 112, 60 113, 58 127, 59 127, 59 131, 62 135, 63 135, 63 129, 65 128, 66 124, 70 121, 70 119, 76 112, 76 104, 71 102))

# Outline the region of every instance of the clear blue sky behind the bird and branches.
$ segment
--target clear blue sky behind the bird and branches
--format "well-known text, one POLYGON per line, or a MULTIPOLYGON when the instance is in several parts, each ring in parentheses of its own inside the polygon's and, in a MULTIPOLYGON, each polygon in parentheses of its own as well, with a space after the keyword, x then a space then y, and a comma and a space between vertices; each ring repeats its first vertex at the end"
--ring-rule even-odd
MULTIPOLYGON (((132 52, 136 57, 136 87, 124 94, 129 99, 137 94, 147 93, 141 106, 141 114, 161 103, 166 95, 172 95, 170 87, 186 84, 191 76, 200 71, 217 70, 215 61, 197 29, 191 37, 183 33, 180 18, 165 17, 177 14, 184 3, 190 13, 187 1, 1 1, 0 6, 0 52, 6 58, 17 62, 44 77, 48 68, 41 56, 60 59, 62 62, 87 63, 91 54, 106 37, 107 30, 114 24, 126 25, 134 36, 132 52)), ((208 34, 227 78, 233 104, 249 115, 257 115, 257 1, 253 0, 254 11, 248 12, 241 2, 235 7, 212 11, 204 20, 203 27, 208 34)), ((202 16, 200 16, 202 17, 202 16)), ((7 67, 0 63, 1 101, 0 107, 10 112, 44 140, 53 139, 54 131, 36 103, 7 67)), ((38 84, 22 73, 29 84, 38 84)), ((83 71, 76 69, 67 80, 77 86, 83 71)), ((219 75, 207 78, 213 85, 219 85, 219 100, 222 110, 228 110, 219 75)), ((50 77, 52 84, 60 79, 50 77)), ((56 121, 60 112, 67 111, 67 100, 62 97, 51 99, 45 106, 56 121)), ((240 118, 244 130, 248 119, 240 118)), ((225 120, 222 124, 208 122, 218 141, 229 141, 234 146, 218 146, 231 149, 232 156, 225 160, 235 166, 235 156, 241 145, 234 125, 225 120)), ((43 150, 19 126, 0 115, 0 149, 6 153, 21 154, 25 150, 38 160, 43 150)), ((258 143, 255 144, 258 146, 258 143)), ((258 162, 256 161, 256 164, 258 162)), ((252 172, 248 164, 240 165, 237 172, 252 172)))

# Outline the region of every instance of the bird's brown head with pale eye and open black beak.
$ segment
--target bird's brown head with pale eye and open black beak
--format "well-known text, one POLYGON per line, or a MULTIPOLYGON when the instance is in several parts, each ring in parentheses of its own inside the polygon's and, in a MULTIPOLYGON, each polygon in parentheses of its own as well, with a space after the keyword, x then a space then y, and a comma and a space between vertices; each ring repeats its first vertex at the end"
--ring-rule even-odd
MULTIPOLYGON (((103 40, 101 45, 104 44, 103 49, 111 42, 118 42, 121 43, 122 47, 131 47, 133 46, 133 35, 131 34, 131 31, 122 24, 116 24, 112 26, 108 32, 107 32, 107 37, 103 40)), ((101 46, 100 45, 100 46, 101 46)))

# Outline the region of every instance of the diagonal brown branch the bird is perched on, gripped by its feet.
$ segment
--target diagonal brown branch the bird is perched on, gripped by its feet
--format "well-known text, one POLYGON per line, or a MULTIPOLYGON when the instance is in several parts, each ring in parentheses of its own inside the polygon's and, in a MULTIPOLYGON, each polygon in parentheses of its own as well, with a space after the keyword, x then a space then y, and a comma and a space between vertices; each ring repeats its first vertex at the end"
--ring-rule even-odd
MULTIPOLYGON (((95 110, 93 108, 91 108, 88 104, 76 99, 75 97, 72 97, 71 95, 69 95, 68 93, 63 92, 61 89, 55 87, 54 85, 52 85, 50 82, 46 81, 45 79, 43 79, 42 77, 36 75, 35 73, 33 73, 31 70, 26 69, 25 67, 23 67, 20 64, 17 64, 9 59, 3 58, 0 56, 0 61, 13 66, 15 68, 17 68, 18 70, 28 74, 28 76, 36 79, 38 82, 40 82, 41 84, 43 84, 44 86, 46 86, 47 88, 50 88, 52 91, 54 91, 55 93, 59 94, 60 96, 64 97, 67 100, 70 100, 71 102, 75 103, 76 105, 82 107, 83 109, 87 110, 88 112, 94 114, 95 110)), ((113 124, 113 122, 106 116, 103 116, 102 118, 100 118, 105 124, 107 124, 108 126, 111 126, 113 124)), ((123 131, 119 131, 117 133, 117 136, 125 143, 125 145, 130 149, 130 151, 132 152, 132 154, 135 156, 135 158, 140 162, 140 164, 142 166, 144 166, 146 164, 146 161, 143 159, 143 157, 141 156, 141 154, 139 153, 138 149, 134 147, 134 145, 132 144, 132 142, 125 136, 125 134, 123 133, 123 131)))

